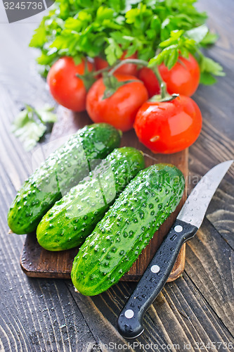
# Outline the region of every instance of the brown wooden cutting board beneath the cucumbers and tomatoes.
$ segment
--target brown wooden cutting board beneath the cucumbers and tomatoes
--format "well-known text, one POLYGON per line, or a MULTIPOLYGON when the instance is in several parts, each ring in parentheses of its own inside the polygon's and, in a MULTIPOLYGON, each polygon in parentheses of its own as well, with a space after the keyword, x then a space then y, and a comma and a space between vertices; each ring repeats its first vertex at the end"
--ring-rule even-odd
MULTIPOLYGON (((58 144, 56 147, 60 146, 62 140, 60 137, 68 136, 69 134, 76 132, 79 128, 84 127, 84 125, 90 123, 91 120, 86 113, 72 113, 65 108, 59 108, 58 122, 53 126, 51 133, 53 148, 54 144, 58 144)), ((172 163, 183 172, 186 179, 188 178, 188 149, 168 155, 151 153, 149 149, 145 148, 140 142, 138 142, 134 130, 123 134, 121 146, 134 146, 137 149, 141 149, 143 153, 145 153, 146 167, 154 163, 172 163)), ((169 216, 160 229, 155 233, 150 244, 148 244, 148 246, 142 251, 138 260, 136 260, 129 272, 122 277, 122 281, 138 281, 141 278, 141 275, 162 243, 162 239, 169 231, 185 201, 186 191, 184 192, 181 203, 176 208, 176 211, 169 216)), ((25 274, 30 277, 70 279, 72 261, 74 256, 77 255, 77 252, 78 248, 61 252, 46 251, 39 246, 36 234, 27 234, 25 245, 22 249, 20 265, 25 274)), ((184 244, 168 281, 173 281, 181 275, 185 265, 185 258, 186 246, 184 244)))

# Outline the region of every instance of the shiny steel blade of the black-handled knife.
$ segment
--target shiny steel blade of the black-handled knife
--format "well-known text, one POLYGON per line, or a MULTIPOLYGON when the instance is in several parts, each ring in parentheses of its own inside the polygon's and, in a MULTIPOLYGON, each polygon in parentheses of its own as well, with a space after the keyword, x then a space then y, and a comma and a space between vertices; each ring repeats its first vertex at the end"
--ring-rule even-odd
POLYGON ((202 225, 204 215, 214 192, 219 187, 221 180, 230 168, 233 160, 224 161, 209 170, 197 183, 190 196, 184 203, 177 219, 188 222, 197 228, 202 225))

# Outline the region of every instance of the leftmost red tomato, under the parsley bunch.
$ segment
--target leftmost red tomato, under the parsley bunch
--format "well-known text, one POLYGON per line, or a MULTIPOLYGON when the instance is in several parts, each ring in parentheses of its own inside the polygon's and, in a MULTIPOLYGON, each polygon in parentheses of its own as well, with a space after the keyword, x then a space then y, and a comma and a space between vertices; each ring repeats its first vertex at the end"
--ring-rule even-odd
MULTIPOLYGON (((93 65, 86 61, 89 72, 93 65)), ((48 72, 47 83, 53 98, 60 105, 72 111, 84 111, 86 106, 86 88, 76 73, 83 75, 85 72, 85 61, 75 65, 73 58, 65 56, 59 58, 48 72)))

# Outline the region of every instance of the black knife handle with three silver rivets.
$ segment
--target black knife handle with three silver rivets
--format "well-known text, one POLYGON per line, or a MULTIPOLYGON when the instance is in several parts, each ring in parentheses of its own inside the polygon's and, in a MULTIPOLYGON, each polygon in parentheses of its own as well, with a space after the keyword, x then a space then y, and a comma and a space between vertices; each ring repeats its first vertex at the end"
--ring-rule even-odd
POLYGON ((123 337, 134 339, 141 335, 146 310, 167 282, 181 246, 196 232, 193 225, 178 219, 174 222, 119 315, 117 327, 123 337))

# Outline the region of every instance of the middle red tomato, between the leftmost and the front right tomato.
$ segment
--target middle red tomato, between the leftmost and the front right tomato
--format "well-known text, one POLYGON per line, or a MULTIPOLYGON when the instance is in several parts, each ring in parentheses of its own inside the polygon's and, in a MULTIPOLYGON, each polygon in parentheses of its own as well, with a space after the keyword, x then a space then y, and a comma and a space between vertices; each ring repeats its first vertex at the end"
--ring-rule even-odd
POLYGON ((122 85, 107 99, 103 99, 103 78, 97 80, 87 95, 86 109, 93 122, 107 122, 119 130, 131 130, 138 108, 148 99, 147 90, 140 80, 131 75, 115 75, 119 82, 134 80, 122 85))

